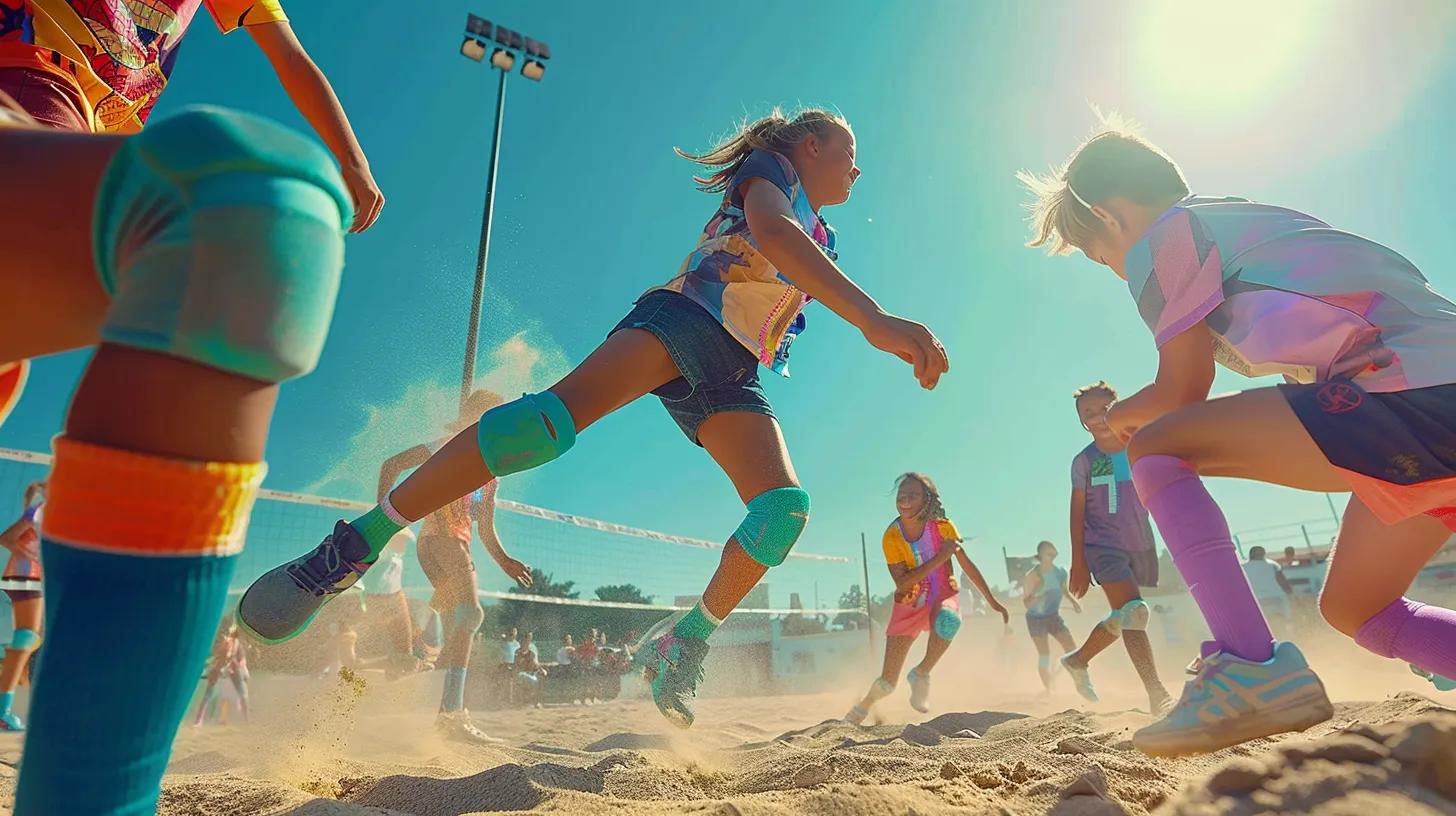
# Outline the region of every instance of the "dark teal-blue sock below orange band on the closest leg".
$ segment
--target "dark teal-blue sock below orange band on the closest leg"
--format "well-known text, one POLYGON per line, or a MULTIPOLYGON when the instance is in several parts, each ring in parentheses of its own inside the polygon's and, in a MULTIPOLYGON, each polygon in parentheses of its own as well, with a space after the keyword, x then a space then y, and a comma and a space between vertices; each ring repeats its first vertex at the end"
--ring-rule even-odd
POLYGON ((42 554, 48 631, 15 813, 150 816, 237 558, 42 554))

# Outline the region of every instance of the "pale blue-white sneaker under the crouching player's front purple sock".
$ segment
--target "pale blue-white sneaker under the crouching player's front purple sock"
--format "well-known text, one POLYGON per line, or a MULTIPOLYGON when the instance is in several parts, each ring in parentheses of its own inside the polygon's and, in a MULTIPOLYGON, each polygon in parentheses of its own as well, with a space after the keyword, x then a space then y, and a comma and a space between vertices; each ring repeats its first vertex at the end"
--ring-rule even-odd
POLYGON ((1291 643, 1262 663, 1216 651, 1194 660, 1194 678, 1166 717, 1133 734, 1149 756, 1207 753, 1251 739, 1303 731, 1335 715, 1325 685, 1291 643))

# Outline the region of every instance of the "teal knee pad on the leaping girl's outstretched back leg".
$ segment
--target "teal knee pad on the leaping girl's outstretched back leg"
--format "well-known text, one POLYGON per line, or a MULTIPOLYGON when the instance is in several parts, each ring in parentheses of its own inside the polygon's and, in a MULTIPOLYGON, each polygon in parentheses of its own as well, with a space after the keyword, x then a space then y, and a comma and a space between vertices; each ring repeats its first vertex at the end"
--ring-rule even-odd
POLYGON ((476 425, 480 459, 491 474, 507 476, 539 468, 577 444, 577 421, 559 396, 549 391, 480 414, 476 425))

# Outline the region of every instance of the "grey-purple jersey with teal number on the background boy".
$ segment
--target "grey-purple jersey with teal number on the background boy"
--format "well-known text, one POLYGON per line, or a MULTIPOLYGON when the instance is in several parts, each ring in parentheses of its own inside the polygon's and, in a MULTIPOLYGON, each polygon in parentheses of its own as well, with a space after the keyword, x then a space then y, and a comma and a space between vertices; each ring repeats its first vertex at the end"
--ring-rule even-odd
POLYGON ((1133 487, 1127 452, 1104 453, 1092 444, 1072 459, 1072 488, 1086 494, 1082 544, 1128 552, 1153 548, 1153 526, 1133 487))

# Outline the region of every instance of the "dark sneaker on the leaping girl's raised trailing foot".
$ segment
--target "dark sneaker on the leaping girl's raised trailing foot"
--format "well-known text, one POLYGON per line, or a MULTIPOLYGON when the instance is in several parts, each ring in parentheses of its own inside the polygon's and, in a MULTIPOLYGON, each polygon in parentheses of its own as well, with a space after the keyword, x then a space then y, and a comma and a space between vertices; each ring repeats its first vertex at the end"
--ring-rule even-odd
POLYGON ((280 644, 298 637, 323 605, 364 576, 368 545, 348 522, 307 555, 264 573, 237 602, 237 624, 252 640, 280 644))

